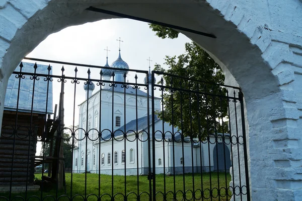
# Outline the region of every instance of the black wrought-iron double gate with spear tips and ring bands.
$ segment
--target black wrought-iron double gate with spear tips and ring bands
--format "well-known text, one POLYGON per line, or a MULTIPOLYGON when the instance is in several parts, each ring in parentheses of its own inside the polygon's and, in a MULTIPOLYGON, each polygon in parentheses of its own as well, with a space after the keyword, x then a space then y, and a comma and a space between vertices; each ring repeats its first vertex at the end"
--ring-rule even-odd
POLYGON ((0 200, 249 200, 240 88, 28 59, 47 65, 10 78, 0 200))

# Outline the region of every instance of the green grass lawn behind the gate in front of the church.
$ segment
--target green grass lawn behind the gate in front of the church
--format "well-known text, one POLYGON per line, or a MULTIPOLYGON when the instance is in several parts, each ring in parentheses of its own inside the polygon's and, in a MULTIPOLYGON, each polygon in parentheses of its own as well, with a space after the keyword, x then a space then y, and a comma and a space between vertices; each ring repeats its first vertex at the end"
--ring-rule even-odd
MULTIPOLYGON (((37 178, 41 178, 42 174, 35 174, 37 178)), ((164 175, 156 175, 156 191, 157 191, 157 200, 164 200, 164 192, 166 187, 167 200, 173 200, 173 194, 176 192, 177 200, 182 200, 183 191, 185 188, 186 199, 192 199, 192 191, 193 191, 193 176, 192 174, 185 175, 176 175, 175 182, 174 176, 166 176, 166 182, 164 182, 164 175), (183 180, 184 179, 184 180, 183 180), (185 181, 185 182, 183 182, 185 181), (174 185, 175 183, 175 185, 174 185), (185 185, 185 187, 184 187, 185 185)), ((228 192, 228 199, 225 195, 225 187, 229 186, 229 182, 231 180, 231 176, 228 173, 226 176, 226 185, 225 185, 225 175, 224 173, 219 173, 219 188, 220 199, 218 197, 218 176, 217 173, 211 173, 211 182, 210 182, 210 174, 194 174, 194 189, 195 189, 195 198, 197 200, 230 200, 231 192, 228 192), (202 189, 210 188, 213 189, 213 198, 209 197, 209 190, 204 191, 203 197, 201 198, 201 176, 202 176, 202 189)), ((99 175, 98 174, 90 174, 87 173, 87 182, 85 182, 85 174, 72 174, 72 196, 73 200, 84 200, 82 195, 85 197, 85 189, 86 189, 86 197, 89 201, 97 201, 99 193, 103 195, 101 200, 111 200, 112 195, 112 176, 110 175, 100 175, 100 188, 99 188, 99 175), (86 188, 85 188, 86 186, 86 188)), ((153 183, 151 182, 151 185, 153 183)), ((147 180, 147 176, 126 176, 126 185, 125 185, 125 176, 113 176, 113 195, 114 200, 124 200, 123 194, 126 195, 127 200, 136 200, 136 195, 140 195, 140 200, 148 200, 149 193, 149 180, 147 180)), ((28 201, 38 201, 39 198, 44 197, 43 201, 52 201, 55 200, 54 197, 58 197, 58 200, 67 201, 69 200, 67 197, 70 197, 70 189, 71 189, 71 174, 66 173, 66 195, 64 190, 61 190, 56 195, 56 190, 52 189, 47 192, 40 191, 29 191, 27 193, 28 201), (52 196, 49 196, 52 195, 52 196), (39 198, 35 197, 38 196, 39 198)), ((4 193, 4 196, 8 197, 9 193, 4 193)), ((23 201, 22 198, 18 198, 16 196, 25 197, 25 192, 23 193, 14 193, 12 197, 13 201, 23 201)), ((5 200, 4 198, 0 198, 0 200, 5 200)), ((183 199, 185 200, 185 199, 183 199)), ((193 199, 192 199, 193 200, 193 199)))

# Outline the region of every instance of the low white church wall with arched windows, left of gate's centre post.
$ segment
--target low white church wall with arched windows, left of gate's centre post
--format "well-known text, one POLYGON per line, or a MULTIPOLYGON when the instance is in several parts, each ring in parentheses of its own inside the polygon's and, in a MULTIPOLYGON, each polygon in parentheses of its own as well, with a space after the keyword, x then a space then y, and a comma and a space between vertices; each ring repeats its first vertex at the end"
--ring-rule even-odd
MULTIPOLYGON (((82 155, 84 156, 84 164, 80 165, 78 164, 78 167, 74 166, 74 173, 83 173, 86 170, 89 171, 90 173, 98 173, 99 172, 99 167, 101 170, 101 174, 112 174, 112 169, 113 169, 113 174, 114 175, 124 175, 124 169, 126 167, 127 175, 136 175, 137 170, 139 174, 144 174, 145 172, 145 167, 144 164, 142 163, 143 160, 146 160, 148 157, 147 155, 145 156, 142 155, 141 147, 143 146, 143 142, 140 142, 139 140, 135 139, 135 136, 133 134, 130 134, 127 137, 126 140, 126 147, 125 147, 125 140, 123 137, 117 137, 116 140, 114 140, 114 143, 112 143, 112 139, 108 141, 102 141, 101 145, 99 146, 99 142, 96 141, 95 143, 88 143, 87 144, 87 150, 95 150, 93 152, 86 152, 86 147, 82 146, 82 149, 79 149, 79 152, 81 153, 78 160, 80 162, 82 155), (132 141, 132 142, 131 142, 132 141), (138 146, 138 147, 137 147, 138 146), (112 152, 113 150, 113 152, 112 152), (125 151, 125 163, 122 163, 122 151, 125 151), (130 161, 130 150, 133 150, 133 160, 130 161), (114 153, 117 152, 118 158, 117 158, 117 163, 114 163, 114 153), (104 159, 104 164, 99 166, 99 160, 101 159, 102 154, 104 153, 105 159, 104 159), (110 158, 110 164, 108 164, 108 153, 111 154, 110 158), (89 158, 86 158, 85 155, 89 154, 89 158), (93 164, 93 154, 96 155, 96 161, 95 165, 93 164), (141 158, 141 156, 143 156, 141 158), (86 160, 89 161, 89 167, 85 169, 85 164, 86 160)), ((146 144, 147 145, 147 144, 146 144)), ((75 157, 77 157, 77 154, 74 153, 74 161, 75 157)))

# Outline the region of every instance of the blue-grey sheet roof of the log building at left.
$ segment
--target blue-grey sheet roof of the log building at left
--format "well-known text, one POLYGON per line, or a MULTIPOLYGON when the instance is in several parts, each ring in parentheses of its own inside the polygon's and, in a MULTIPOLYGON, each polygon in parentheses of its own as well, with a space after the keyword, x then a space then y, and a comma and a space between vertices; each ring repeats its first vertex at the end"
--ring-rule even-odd
MULTIPOLYGON (((22 72, 34 73, 34 63, 22 62, 23 68, 22 72)), ((37 64, 37 74, 48 74, 48 65, 37 64)), ((15 70, 20 72, 20 66, 15 70)), ((50 75, 52 75, 52 70, 50 70, 50 75)), ((18 110, 22 112, 31 112, 32 106, 32 94, 33 94, 33 80, 30 79, 31 76, 25 76, 24 79, 17 79, 16 74, 12 74, 9 78, 7 92, 5 96, 4 109, 16 111, 17 109, 17 99, 18 99, 18 87, 19 80, 20 84, 20 98, 18 110)), ((34 113, 45 113, 46 107, 46 95, 47 95, 47 82, 44 81, 42 77, 35 81, 35 93, 34 93, 34 113)), ((48 89, 48 102, 47 102, 47 112, 52 113, 52 82, 50 82, 48 89)))

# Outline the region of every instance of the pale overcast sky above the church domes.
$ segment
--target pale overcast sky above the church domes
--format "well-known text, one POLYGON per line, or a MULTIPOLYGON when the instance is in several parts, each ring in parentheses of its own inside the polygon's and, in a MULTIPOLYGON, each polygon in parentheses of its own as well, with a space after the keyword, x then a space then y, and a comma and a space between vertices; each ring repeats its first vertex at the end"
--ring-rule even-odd
MULTIPOLYGON (((128 20, 111 19, 101 20, 84 25, 67 27, 57 33, 49 35, 42 41, 27 57, 43 58, 49 60, 59 60, 74 63, 84 63, 92 65, 105 65, 106 47, 108 46, 108 63, 111 65, 118 57, 119 42, 121 37, 121 57, 129 65, 130 69, 148 70, 148 60, 150 57, 151 68, 155 63, 164 63, 166 55, 174 56, 185 52, 184 45, 191 40, 180 34, 177 39, 161 39, 155 35, 147 23, 128 20)), ((28 61, 28 60, 24 60, 28 61)), ((29 61, 33 62, 33 61, 29 61)), ((40 64, 49 64, 42 63, 40 64)), ((60 75, 61 64, 51 63, 53 74, 60 75)), ((74 76, 75 66, 64 65, 65 75, 74 76)), ((87 76, 88 69, 79 68, 78 75, 87 76)), ((99 70, 91 70, 92 78, 99 79, 99 70)), ((134 73, 129 73, 129 81, 134 80, 134 73)), ((143 76, 138 79, 140 82, 143 76)), ((53 82, 53 102, 59 101, 60 84, 53 82)), ((78 124, 78 105, 85 100, 83 82, 77 87, 75 103, 75 125, 78 124)), ((73 85, 70 81, 65 85, 65 126, 72 125, 73 112, 73 85), (68 104, 66 104, 68 103, 68 104), (66 116, 67 115, 67 116, 66 116)), ((37 150, 37 154, 39 151, 37 150)))

